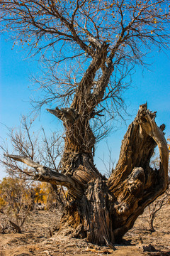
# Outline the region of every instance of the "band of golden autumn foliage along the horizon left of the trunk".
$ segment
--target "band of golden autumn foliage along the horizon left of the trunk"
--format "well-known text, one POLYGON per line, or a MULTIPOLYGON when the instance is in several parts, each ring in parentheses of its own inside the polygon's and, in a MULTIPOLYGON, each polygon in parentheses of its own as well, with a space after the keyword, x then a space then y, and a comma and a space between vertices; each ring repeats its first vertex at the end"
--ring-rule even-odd
POLYGON ((38 182, 28 186, 23 179, 11 177, 0 181, 0 208, 2 206, 18 208, 21 204, 28 206, 31 202, 43 204, 45 209, 56 203, 56 195, 50 184, 38 182))

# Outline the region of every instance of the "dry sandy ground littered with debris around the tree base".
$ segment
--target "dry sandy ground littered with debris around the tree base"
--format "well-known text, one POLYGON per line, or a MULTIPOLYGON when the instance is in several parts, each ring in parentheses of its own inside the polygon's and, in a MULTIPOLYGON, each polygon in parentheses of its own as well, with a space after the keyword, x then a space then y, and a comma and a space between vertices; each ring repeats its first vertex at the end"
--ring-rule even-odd
MULTIPOLYGON (((166 204, 157 213, 154 220, 156 229, 154 233, 148 230, 148 215, 145 211, 137 219, 134 228, 125 234, 123 243, 115 245, 115 251, 107 246, 100 247, 86 240, 62 237, 57 233, 50 236, 50 228, 59 218, 60 213, 57 210, 41 210, 32 213, 23 227, 23 233, 0 234, 0 256, 170 255, 170 204, 166 204)), ((0 213, 0 222, 2 221, 3 214, 0 213)))

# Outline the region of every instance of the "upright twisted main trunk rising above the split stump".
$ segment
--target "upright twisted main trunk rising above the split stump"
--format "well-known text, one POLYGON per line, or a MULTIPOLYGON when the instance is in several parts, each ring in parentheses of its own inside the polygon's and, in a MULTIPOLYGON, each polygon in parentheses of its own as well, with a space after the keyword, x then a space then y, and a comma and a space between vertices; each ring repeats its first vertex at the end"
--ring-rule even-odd
POLYGON ((83 189, 86 188, 86 184, 91 178, 102 178, 94 165, 96 138, 89 122, 94 115, 98 114, 94 109, 98 102, 101 102, 113 72, 112 62, 109 62, 108 67, 105 64, 108 44, 101 44, 95 38, 89 38, 89 41, 94 42, 96 52, 89 68, 77 85, 72 105, 69 108, 48 109, 50 113, 62 120, 65 129, 64 154, 61 161, 62 174, 72 176, 83 189), (100 68, 103 75, 98 80, 96 90, 91 93, 96 72, 100 68))

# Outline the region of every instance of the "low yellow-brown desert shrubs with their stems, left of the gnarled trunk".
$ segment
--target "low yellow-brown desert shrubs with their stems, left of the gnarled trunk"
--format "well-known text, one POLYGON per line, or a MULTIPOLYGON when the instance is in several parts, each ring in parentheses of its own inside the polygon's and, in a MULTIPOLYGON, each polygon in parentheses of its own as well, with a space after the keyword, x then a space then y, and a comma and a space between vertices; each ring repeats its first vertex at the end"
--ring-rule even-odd
POLYGON ((23 178, 6 177, 0 182, 1 233, 22 233, 35 210, 61 208, 62 192, 48 183, 28 183, 23 178), (60 198, 60 200, 59 200, 60 198))

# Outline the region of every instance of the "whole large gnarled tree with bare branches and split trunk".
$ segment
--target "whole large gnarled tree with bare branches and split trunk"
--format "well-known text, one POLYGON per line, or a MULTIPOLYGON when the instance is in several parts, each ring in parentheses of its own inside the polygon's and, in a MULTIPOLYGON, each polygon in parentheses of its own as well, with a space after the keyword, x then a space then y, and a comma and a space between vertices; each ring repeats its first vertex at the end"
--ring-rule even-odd
MULTIPOLYGON (((47 109, 64 127, 60 171, 22 154, 11 161, 30 166, 33 179, 68 188, 61 228, 74 237, 104 244, 119 240, 168 184, 169 151, 164 125, 140 106, 128 127, 118 164, 106 179, 94 165, 95 144, 123 105, 123 83, 154 48, 169 42, 169 1, 1 1, 1 24, 15 43, 40 53, 45 78, 37 82, 47 109), (99 132, 98 132, 99 131, 99 132), (149 166, 159 147, 159 170, 149 166), (34 171, 33 171, 34 170, 34 171), (33 174, 34 172, 34 174, 33 174)), ((2 29, 3 29, 2 28, 2 29)), ((13 44, 14 46, 14 44, 13 44)), ((127 80, 126 80, 127 81, 127 80)))

